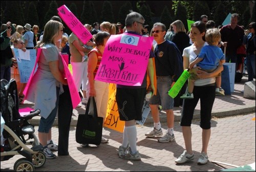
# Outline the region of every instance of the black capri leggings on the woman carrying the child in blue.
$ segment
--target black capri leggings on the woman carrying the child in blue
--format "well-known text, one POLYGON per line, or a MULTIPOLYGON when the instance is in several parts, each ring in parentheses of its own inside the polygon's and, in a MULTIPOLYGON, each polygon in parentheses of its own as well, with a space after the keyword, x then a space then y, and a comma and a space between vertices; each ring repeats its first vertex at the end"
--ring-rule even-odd
POLYGON ((215 100, 215 85, 194 87, 194 99, 185 99, 183 101, 181 113, 181 126, 191 126, 194 111, 200 99, 200 127, 210 129, 211 110, 215 100))

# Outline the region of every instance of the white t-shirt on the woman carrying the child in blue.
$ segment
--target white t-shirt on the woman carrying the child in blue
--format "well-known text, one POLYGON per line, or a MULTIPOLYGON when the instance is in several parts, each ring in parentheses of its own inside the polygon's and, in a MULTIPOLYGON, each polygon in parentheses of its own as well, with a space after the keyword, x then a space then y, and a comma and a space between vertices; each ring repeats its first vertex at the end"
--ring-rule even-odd
MULTIPOLYGON (((204 42, 204 46, 207 46, 207 42, 204 42)), ((191 63, 192 61, 194 61, 197 58, 197 54, 194 52, 194 48, 193 48, 194 44, 192 44, 191 46, 185 48, 183 50, 183 58, 189 58, 189 63, 191 63)), ((195 68, 196 66, 194 66, 195 68)), ((195 86, 203 86, 203 85, 207 85, 207 84, 211 84, 211 83, 215 83, 216 78, 205 78, 205 79, 197 79, 195 81, 195 86)))

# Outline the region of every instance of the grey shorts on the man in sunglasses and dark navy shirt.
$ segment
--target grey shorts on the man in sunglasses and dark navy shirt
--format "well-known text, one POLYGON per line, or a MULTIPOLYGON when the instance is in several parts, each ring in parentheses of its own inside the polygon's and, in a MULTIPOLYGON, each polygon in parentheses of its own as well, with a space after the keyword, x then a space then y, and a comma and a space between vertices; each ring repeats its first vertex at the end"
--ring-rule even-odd
POLYGON ((168 95, 170 85, 173 83, 171 76, 157 76, 157 95, 150 99, 150 104, 162 105, 162 110, 174 108, 174 99, 168 95))

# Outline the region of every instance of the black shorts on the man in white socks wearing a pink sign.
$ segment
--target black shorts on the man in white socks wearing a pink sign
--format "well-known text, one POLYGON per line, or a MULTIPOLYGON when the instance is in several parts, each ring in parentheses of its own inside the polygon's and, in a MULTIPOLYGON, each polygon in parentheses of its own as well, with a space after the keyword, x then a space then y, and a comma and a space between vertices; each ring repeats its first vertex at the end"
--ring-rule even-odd
POLYGON ((116 101, 121 121, 142 120, 146 88, 116 90, 116 101))

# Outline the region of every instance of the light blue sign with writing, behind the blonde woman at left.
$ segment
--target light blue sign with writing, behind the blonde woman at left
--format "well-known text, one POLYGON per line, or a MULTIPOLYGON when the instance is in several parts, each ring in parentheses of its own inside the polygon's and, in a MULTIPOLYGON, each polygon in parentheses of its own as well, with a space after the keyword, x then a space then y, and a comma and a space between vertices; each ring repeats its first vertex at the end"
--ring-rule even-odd
MULTIPOLYGON (((27 50, 26 53, 29 55, 28 58, 24 58, 25 52, 19 49, 13 49, 13 52, 17 59, 18 72, 20 77, 20 83, 27 83, 29 77, 31 76, 32 70, 36 62, 36 50, 27 50)), ((35 67, 34 72, 36 71, 37 66, 35 67)))

